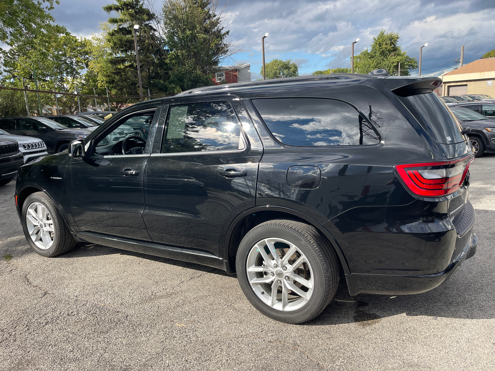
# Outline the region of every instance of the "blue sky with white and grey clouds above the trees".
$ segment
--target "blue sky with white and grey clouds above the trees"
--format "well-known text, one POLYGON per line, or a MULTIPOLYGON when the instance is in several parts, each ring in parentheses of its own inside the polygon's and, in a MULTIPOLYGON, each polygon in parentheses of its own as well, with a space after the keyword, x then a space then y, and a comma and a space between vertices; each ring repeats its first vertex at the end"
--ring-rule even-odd
MULTIPOLYGON (((60 0, 52 11, 58 24, 77 36, 99 32, 108 19, 101 6, 111 0, 60 0)), ((155 0, 156 9, 161 0, 155 0)), ((261 36, 265 58, 292 59, 300 74, 335 67, 350 67, 350 44, 359 38, 354 52, 369 47, 380 30, 398 32, 399 45, 419 58, 422 75, 455 67, 464 46, 464 64, 495 49, 494 0, 229 0, 224 24, 243 51, 225 64, 250 63, 251 78, 259 78, 261 36)))

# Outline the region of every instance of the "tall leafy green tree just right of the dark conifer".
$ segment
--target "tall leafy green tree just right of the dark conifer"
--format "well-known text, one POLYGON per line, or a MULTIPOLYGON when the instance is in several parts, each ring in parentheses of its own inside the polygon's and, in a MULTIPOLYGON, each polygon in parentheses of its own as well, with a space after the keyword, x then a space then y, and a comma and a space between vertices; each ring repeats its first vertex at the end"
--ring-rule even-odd
POLYGON ((218 0, 165 0, 163 27, 174 93, 213 84, 218 65, 235 52, 218 0))

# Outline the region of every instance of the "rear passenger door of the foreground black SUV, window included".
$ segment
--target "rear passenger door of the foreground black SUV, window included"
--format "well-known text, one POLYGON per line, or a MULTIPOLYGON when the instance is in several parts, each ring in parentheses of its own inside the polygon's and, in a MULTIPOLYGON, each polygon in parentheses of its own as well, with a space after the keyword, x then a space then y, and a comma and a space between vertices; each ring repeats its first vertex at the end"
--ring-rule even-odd
POLYGON ((152 241, 221 256, 230 221, 255 206, 261 155, 239 98, 174 100, 145 172, 152 241))

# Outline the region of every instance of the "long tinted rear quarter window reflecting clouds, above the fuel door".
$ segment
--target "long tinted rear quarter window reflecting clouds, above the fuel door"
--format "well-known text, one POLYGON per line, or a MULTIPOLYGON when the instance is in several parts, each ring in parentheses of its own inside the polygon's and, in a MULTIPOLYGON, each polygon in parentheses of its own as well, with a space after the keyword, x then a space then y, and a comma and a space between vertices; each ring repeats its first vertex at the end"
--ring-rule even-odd
POLYGON ((329 146, 378 144, 378 134, 347 103, 323 98, 253 99, 273 136, 284 144, 329 146))

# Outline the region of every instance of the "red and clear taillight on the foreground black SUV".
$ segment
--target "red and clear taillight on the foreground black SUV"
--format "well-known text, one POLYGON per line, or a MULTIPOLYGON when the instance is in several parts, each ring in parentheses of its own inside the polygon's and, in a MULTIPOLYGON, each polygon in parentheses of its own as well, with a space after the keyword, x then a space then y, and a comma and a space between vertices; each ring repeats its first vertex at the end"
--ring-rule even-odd
POLYGON ((458 160, 394 165, 409 189, 426 197, 446 196, 458 190, 466 178, 472 154, 458 160))

